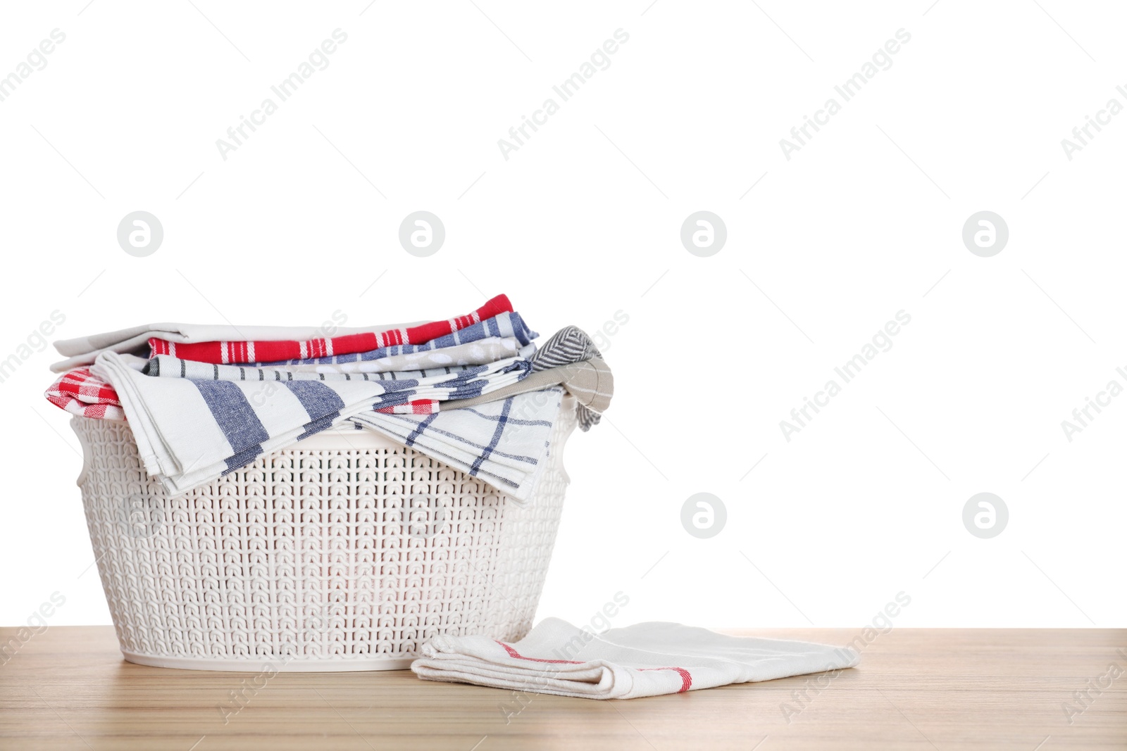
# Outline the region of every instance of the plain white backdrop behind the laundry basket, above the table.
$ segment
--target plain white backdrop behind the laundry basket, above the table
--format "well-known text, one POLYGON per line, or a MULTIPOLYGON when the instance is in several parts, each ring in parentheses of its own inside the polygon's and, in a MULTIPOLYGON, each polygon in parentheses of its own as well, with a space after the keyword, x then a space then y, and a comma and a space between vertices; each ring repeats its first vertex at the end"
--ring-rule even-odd
MULTIPOLYGON (((0 75, 66 38, 0 101, 0 357, 55 310, 57 337, 446 318, 502 292, 543 336, 622 311, 539 617, 586 624, 622 591, 615 625, 858 626, 904 591, 904 626, 1124 625, 1127 396, 1071 442, 1061 426, 1127 386, 1127 114, 1061 145, 1127 105, 1117 3, 194 1, 5 7, 0 75), (337 28, 328 68, 224 161, 216 138, 337 28), (611 65, 504 159, 619 28, 611 65), (787 160, 780 138, 900 28, 787 160), (148 258, 116 242, 137 209, 165 229, 148 258), (398 243, 417 209, 446 227, 429 258, 398 243), (700 209, 727 225, 709 258, 680 241, 700 209), (992 258, 961 240, 984 209, 1010 230, 992 258), (902 310, 788 442, 780 420, 902 310), (984 491, 1010 511, 992 539, 962 525, 984 491), (711 539, 681 525, 696 492, 727 507, 711 539)), ((109 623, 78 442, 41 395, 54 359, 0 383, 6 625, 55 591, 52 624, 109 623)))

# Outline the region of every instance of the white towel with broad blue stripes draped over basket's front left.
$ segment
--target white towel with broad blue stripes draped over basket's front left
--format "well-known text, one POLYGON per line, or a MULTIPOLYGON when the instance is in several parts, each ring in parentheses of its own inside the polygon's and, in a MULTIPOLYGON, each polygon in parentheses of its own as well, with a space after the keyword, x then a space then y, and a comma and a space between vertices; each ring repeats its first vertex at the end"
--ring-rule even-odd
POLYGON ((411 399, 477 396, 520 381, 527 368, 527 360, 507 358, 330 378, 284 366, 206 365, 167 355, 144 361, 103 352, 91 372, 117 392, 145 471, 176 494, 360 412, 411 399), (139 366, 156 372, 145 375, 139 366))

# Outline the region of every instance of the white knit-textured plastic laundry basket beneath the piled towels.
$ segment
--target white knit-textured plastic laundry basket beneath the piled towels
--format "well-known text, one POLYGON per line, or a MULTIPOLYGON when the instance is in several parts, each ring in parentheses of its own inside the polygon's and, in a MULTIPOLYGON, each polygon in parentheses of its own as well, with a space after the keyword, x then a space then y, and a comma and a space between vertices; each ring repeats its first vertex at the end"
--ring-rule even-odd
POLYGON ((122 654, 197 670, 407 668, 436 634, 523 637, 568 483, 565 394, 535 495, 332 430, 169 498, 124 422, 76 417, 78 484, 122 654))

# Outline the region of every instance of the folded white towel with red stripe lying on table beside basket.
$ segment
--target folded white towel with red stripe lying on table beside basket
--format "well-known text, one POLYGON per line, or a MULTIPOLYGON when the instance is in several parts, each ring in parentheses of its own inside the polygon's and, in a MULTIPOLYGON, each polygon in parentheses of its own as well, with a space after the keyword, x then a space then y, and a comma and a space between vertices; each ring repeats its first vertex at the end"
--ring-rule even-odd
POLYGON ((728 683, 852 668, 844 646, 649 622, 596 634, 545 618, 506 644, 487 636, 435 636, 411 670, 426 680, 476 683, 587 699, 633 699, 728 683))

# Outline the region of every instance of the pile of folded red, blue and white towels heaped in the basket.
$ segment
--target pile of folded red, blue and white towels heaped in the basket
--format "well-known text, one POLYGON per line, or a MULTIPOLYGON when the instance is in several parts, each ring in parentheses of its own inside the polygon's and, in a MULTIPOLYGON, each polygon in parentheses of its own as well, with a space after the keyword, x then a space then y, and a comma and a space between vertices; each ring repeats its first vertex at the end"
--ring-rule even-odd
POLYGON ((467 315, 338 329, 153 323, 55 342, 46 397, 126 420, 145 471, 183 493, 327 429, 375 430, 517 501, 550 450, 567 391, 583 430, 613 393, 591 339, 542 347, 498 295, 467 315))

